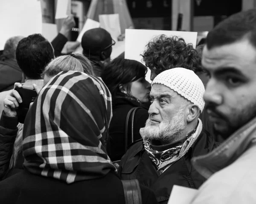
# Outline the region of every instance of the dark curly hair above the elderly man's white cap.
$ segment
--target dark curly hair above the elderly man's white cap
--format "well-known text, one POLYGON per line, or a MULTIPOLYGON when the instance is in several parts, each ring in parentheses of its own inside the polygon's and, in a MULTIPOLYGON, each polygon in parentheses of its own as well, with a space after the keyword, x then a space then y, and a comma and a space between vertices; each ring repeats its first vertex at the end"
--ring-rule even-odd
POLYGON ((143 53, 143 61, 150 69, 155 68, 156 74, 167 69, 183 67, 201 72, 201 57, 192 44, 186 44, 183 38, 160 35, 149 42, 143 53))

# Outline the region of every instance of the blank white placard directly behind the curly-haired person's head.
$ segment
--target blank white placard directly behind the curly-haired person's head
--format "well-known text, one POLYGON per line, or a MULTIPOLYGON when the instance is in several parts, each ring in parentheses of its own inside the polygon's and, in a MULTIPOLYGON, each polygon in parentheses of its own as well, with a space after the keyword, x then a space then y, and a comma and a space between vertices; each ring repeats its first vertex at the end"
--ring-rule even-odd
MULTIPOLYGON (((125 59, 137 60, 141 63, 146 45, 161 34, 166 36, 182 37, 186 43, 192 43, 196 46, 197 32, 183 31, 164 31, 164 30, 143 30, 143 29, 125 29, 125 59)), ((144 64, 144 63, 143 63, 144 64)), ((150 80, 150 70, 146 74, 146 80, 150 80)))

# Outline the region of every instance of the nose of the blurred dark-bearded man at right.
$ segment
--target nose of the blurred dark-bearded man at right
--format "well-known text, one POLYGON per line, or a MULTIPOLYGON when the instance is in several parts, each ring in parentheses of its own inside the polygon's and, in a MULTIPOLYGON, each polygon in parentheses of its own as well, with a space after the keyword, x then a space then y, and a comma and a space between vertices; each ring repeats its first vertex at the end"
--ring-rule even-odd
POLYGON ((207 83, 205 93, 204 93, 204 101, 205 103, 213 103, 216 105, 221 105, 223 102, 221 91, 223 91, 223 87, 220 86, 221 83, 214 79, 210 79, 207 83))

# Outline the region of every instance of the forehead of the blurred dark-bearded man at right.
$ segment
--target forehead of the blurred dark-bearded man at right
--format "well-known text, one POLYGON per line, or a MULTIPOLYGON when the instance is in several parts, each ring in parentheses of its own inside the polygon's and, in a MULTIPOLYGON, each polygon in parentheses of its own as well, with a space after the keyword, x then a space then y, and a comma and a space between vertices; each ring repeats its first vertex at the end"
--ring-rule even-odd
POLYGON ((232 67, 243 72, 245 75, 256 75, 256 48, 249 40, 240 40, 223 46, 208 49, 204 47, 202 66, 209 72, 217 69, 232 67))

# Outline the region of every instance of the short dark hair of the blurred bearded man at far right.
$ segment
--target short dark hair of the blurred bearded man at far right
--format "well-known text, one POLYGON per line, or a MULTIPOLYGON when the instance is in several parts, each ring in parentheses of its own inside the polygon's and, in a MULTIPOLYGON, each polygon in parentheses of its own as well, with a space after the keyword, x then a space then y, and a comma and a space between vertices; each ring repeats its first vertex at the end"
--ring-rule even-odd
POLYGON ((207 34, 207 49, 234 43, 245 36, 256 47, 256 9, 233 14, 221 21, 207 34))

